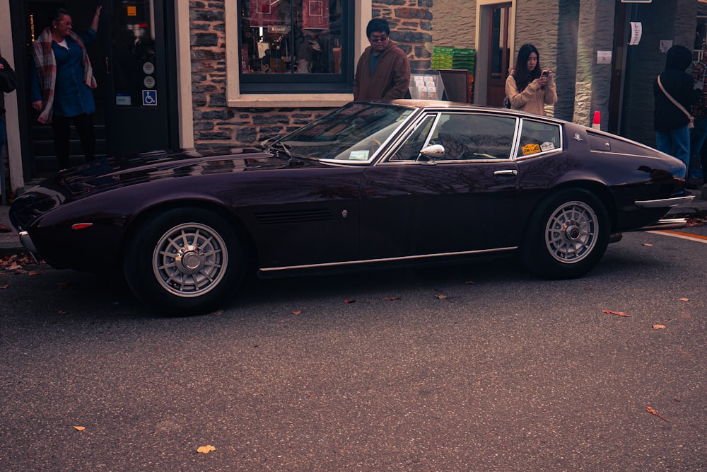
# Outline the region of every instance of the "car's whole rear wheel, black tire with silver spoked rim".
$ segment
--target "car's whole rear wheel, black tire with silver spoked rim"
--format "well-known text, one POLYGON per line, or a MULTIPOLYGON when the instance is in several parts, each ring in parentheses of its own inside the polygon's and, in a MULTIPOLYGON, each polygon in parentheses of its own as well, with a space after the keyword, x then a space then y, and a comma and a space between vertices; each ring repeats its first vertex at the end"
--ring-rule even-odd
POLYGON ((583 189, 559 190, 542 200, 530 218, 523 263, 540 277, 580 277, 599 263, 610 232, 600 198, 583 189))

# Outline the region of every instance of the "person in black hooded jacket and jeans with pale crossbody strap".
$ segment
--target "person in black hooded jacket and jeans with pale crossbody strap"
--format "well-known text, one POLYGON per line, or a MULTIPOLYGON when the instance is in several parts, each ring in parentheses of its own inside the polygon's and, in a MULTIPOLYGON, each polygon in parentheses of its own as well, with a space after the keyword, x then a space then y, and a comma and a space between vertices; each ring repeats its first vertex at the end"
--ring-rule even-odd
POLYGON ((692 64, 692 52, 684 46, 673 46, 665 57, 665 71, 653 82, 655 109, 653 129, 658 151, 677 157, 689 166, 690 131, 689 110, 700 98, 701 91, 695 90, 692 77, 686 69, 692 64), (688 114, 672 103, 658 85, 665 88, 674 100, 682 105, 688 114))

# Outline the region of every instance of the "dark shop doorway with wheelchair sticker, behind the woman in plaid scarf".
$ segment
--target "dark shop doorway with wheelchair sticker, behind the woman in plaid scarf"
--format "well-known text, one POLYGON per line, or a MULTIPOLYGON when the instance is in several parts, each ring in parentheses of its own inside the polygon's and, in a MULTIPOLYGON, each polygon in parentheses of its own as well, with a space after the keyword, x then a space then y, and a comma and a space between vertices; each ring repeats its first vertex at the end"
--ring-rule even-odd
MULTIPOLYGON (((23 76, 30 77, 31 48, 46 28, 57 8, 71 14, 74 31, 83 33, 102 6, 98 38, 86 45, 98 87, 93 91, 96 111, 96 158, 178 146, 175 50, 173 12, 166 0, 98 0, 87 6, 81 0, 27 0, 17 14, 22 21, 13 28, 17 45, 24 48, 23 76), (172 111, 173 113, 170 113, 172 111)), ((13 23, 15 23, 13 21, 13 23)), ((17 57, 17 54, 16 54, 17 57)), ((52 129, 40 125, 27 103, 29 133, 22 147, 25 178, 38 178, 57 171, 52 129)), ((83 163, 83 151, 72 127, 71 165, 83 163)))

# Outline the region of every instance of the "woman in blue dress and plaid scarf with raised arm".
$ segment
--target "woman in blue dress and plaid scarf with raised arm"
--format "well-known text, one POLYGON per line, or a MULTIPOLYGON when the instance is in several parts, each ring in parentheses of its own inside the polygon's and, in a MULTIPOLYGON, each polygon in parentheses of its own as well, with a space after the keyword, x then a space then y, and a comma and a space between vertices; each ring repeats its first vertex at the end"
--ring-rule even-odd
POLYGON ((32 47, 32 108, 39 114, 38 122, 52 124, 54 152, 62 169, 69 167, 71 121, 81 139, 86 161, 95 158, 95 134, 90 115, 95 111, 92 90, 96 84, 86 44, 96 38, 100 8, 96 8, 93 22, 83 35, 74 33, 71 15, 59 8, 52 24, 42 31, 32 47))

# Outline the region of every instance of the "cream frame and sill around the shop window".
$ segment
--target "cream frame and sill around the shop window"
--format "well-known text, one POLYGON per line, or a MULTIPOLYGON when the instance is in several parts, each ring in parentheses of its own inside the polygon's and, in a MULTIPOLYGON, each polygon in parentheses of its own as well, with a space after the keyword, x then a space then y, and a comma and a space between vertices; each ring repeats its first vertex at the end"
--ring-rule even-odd
MULTIPOLYGON (((224 0, 224 15, 226 18, 226 103, 228 107, 248 108, 279 108, 297 107, 339 107, 353 100, 353 91, 341 91, 339 84, 353 81, 354 67, 368 44, 366 25, 371 18, 371 0, 354 1, 354 18, 350 25, 353 31, 354 54, 351 55, 351 67, 348 68, 344 82, 337 87, 327 87, 326 83, 306 81, 301 86, 294 87, 294 81, 267 84, 268 86, 253 87, 252 84, 242 84, 240 80, 240 1, 224 0), (282 93, 286 86, 293 93, 282 93), (322 91, 322 88, 324 89, 322 91), (327 91, 327 88, 329 90, 327 91), (308 90, 316 90, 309 92, 308 90), (255 93, 253 93, 255 92, 255 93)), ((342 72, 343 74, 343 72, 342 72)), ((296 78, 296 81, 302 79, 296 78)))

